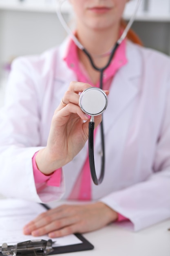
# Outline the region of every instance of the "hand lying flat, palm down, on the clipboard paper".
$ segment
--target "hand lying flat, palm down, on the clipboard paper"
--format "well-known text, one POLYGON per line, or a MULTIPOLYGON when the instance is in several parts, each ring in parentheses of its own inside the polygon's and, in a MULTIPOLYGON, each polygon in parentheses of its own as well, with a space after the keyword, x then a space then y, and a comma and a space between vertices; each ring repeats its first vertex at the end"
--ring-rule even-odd
POLYGON ((83 205, 62 205, 40 214, 23 229, 25 235, 60 237, 86 233, 117 220, 117 213, 102 202, 83 205))

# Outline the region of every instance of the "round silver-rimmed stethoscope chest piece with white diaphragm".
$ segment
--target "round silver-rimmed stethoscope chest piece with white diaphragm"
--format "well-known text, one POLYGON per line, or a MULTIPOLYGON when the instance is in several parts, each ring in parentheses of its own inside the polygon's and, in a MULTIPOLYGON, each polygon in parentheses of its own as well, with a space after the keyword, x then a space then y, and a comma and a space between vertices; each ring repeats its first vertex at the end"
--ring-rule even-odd
POLYGON ((90 87, 84 90, 79 97, 80 108, 90 116, 102 114, 106 110, 107 105, 107 95, 100 88, 90 87))

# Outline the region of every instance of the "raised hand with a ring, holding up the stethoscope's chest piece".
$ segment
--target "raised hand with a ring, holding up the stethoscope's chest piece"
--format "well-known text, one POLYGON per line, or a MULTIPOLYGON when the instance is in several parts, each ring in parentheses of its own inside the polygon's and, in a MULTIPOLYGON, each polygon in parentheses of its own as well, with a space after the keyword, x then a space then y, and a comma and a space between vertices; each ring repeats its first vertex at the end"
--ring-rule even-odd
MULTIPOLYGON (((47 145, 36 156, 42 173, 49 175, 66 165, 84 147, 88 139, 89 116, 79 107, 79 94, 88 88, 92 88, 91 85, 73 81, 63 95, 63 102, 60 102, 51 121, 47 145)), ((95 116, 94 121, 96 127, 102 121, 102 115, 95 116)))

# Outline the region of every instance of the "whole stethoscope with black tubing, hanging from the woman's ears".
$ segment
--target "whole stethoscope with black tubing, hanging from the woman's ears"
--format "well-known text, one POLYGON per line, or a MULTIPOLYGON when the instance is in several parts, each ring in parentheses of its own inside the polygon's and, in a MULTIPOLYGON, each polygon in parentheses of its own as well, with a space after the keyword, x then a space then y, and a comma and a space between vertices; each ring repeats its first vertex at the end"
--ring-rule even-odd
MULTIPOLYGON (((101 159, 102 160, 101 163, 102 164, 101 164, 101 171, 100 171, 99 178, 97 177, 96 171, 95 171, 93 138, 94 138, 94 126, 95 126, 94 117, 97 116, 97 115, 101 115, 104 112, 104 110, 106 110, 106 107, 108 105, 107 95, 102 90, 102 88, 103 88, 103 73, 104 73, 104 70, 106 70, 106 68, 110 65, 110 62, 112 61, 112 58, 115 55, 115 52, 116 52, 117 48, 119 47, 121 42, 127 36, 128 31, 129 31, 130 27, 132 26, 133 21, 135 20, 135 16, 136 16, 137 10, 138 10, 139 5, 141 4, 142 0, 138 0, 137 1, 137 5, 136 5, 136 8, 135 8, 135 11, 134 11, 132 17, 130 18, 130 20, 128 22, 128 25, 124 29, 123 34, 121 35, 119 40, 117 40, 117 43, 113 46, 113 48, 109 52, 107 52, 105 54, 105 55, 110 55, 110 58, 108 60, 108 63, 104 67, 102 67, 102 68, 99 68, 99 67, 97 67, 94 64, 93 58, 91 57, 91 54, 89 54, 89 52, 84 48, 84 46, 79 42, 79 40, 77 40, 75 35, 72 33, 71 29, 66 24, 66 22, 65 22, 65 20, 64 20, 64 18, 62 16, 62 13, 61 13, 61 6, 62 6, 63 2, 65 2, 65 0, 58 0, 59 7, 56 9, 57 16, 58 16, 61 24, 63 25, 64 29, 67 31, 68 35, 71 36, 71 38, 73 39, 73 41, 77 45, 77 47, 79 49, 81 49, 88 56, 89 61, 91 62, 92 67, 95 70, 100 72, 100 86, 99 86, 99 88, 96 88, 96 87, 88 88, 88 89, 84 90, 82 92, 82 94, 80 95, 80 97, 79 97, 79 106, 80 106, 80 108, 87 115, 91 116, 91 119, 89 121, 89 126, 88 126, 88 128, 89 128, 89 132, 88 132, 89 164, 90 164, 92 180, 93 180, 94 184, 99 185, 99 184, 102 183, 103 178, 104 178, 104 165, 105 165, 103 121, 100 124, 101 143, 102 143, 102 153, 101 153, 101 158, 102 158, 101 159)), ((102 120, 103 120, 103 118, 102 118, 102 120)))

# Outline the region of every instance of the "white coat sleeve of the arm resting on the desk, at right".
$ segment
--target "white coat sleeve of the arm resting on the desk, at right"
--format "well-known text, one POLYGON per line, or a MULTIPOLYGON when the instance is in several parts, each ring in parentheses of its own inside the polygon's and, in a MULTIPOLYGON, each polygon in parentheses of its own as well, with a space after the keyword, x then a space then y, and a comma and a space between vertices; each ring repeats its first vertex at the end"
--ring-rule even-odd
POLYGON ((146 181, 115 191, 101 199, 128 218, 135 231, 170 218, 170 84, 166 96, 153 174, 146 181))

